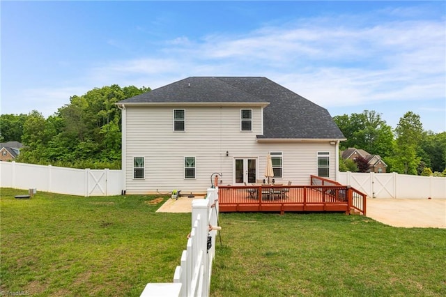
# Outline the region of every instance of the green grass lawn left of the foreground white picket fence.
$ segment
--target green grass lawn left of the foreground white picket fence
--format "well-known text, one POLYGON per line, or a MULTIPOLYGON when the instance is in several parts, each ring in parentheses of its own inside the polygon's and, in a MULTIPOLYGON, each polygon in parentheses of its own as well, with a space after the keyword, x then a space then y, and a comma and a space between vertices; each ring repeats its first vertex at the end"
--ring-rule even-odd
POLYGON ((155 213, 155 196, 20 194, 1 189, 1 295, 139 296, 172 281, 190 213, 155 213))

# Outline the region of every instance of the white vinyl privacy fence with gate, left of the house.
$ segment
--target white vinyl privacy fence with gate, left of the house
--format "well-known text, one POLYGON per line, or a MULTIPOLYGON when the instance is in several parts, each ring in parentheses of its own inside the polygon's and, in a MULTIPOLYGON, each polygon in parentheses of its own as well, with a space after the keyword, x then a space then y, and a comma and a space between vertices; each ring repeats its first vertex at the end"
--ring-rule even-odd
POLYGON ((85 197, 121 195, 123 190, 122 170, 0 162, 0 178, 2 188, 36 189, 85 197))

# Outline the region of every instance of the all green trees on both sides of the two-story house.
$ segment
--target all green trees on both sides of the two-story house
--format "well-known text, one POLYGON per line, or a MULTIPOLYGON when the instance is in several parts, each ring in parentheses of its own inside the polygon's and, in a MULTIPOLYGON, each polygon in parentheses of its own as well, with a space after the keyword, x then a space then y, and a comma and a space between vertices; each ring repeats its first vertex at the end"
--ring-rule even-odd
MULTIPOLYGON (((151 91, 117 84, 72 96, 47 119, 38 111, 0 115, 0 141, 17 141, 24 148, 17 162, 73 168, 121 168, 121 111, 116 102, 151 91)), ((387 172, 446 176, 446 132, 424 131, 420 116, 406 112, 392 129, 375 111, 334 116, 346 137, 340 150, 358 148, 380 155, 387 172)), ((339 170, 366 172, 360 158, 339 170)))

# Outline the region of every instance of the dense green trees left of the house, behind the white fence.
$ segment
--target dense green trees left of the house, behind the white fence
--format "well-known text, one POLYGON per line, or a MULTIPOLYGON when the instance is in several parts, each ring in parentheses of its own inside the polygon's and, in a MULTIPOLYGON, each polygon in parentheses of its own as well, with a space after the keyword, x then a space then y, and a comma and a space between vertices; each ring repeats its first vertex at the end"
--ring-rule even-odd
POLYGON ((121 168, 121 110, 116 102, 151 91, 117 84, 72 96, 47 119, 38 111, 0 116, 1 142, 22 142, 17 162, 72 168, 121 168))

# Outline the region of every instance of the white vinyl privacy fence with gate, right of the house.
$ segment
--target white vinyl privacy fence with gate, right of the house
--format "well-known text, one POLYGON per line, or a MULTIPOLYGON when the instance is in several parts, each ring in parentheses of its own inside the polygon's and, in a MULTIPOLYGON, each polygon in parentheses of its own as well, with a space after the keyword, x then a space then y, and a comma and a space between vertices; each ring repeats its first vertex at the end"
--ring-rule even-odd
POLYGON ((338 183, 351 185, 368 197, 446 199, 446 177, 392 173, 339 172, 338 183))

